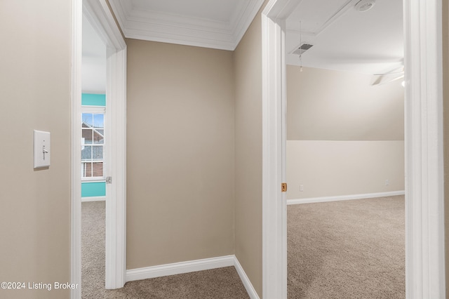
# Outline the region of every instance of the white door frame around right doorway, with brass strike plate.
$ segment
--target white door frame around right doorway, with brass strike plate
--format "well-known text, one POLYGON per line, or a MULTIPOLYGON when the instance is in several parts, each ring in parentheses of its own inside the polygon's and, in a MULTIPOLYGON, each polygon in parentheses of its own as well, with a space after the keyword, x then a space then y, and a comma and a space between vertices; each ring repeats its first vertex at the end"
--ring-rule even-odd
MULTIPOLYGON (((299 0, 262 12, 263 297, 287 298, 285 20, 299 0)), ((406 298, 445 298, 441 0, 403 0, 406 71, 406 298)))

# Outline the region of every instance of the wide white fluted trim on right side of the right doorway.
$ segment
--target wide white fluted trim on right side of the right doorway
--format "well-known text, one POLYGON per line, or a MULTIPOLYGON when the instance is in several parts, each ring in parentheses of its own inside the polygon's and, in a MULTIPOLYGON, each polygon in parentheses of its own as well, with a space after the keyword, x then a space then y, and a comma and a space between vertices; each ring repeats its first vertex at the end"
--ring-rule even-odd
POLYGON ((445 298, 441 0, 404 1, 406 295, 445 298))

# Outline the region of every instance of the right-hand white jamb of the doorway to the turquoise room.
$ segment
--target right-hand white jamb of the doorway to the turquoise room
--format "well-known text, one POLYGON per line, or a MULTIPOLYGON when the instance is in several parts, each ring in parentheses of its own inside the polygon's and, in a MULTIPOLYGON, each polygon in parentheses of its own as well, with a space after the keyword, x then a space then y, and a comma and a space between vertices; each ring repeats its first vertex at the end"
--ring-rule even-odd
POLYGON ((126 48, 108 48, 106 140, 114 140, 106 156, 106 288, 126 282, 126 48))

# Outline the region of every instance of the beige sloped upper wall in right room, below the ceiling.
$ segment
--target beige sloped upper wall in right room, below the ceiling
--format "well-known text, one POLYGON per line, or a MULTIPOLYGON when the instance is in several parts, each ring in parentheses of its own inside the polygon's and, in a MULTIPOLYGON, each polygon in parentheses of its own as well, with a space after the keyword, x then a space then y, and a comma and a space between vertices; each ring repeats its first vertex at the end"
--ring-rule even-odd
POLYGON ((287 140, 403 140, 401 80, 287 66, 287 140))

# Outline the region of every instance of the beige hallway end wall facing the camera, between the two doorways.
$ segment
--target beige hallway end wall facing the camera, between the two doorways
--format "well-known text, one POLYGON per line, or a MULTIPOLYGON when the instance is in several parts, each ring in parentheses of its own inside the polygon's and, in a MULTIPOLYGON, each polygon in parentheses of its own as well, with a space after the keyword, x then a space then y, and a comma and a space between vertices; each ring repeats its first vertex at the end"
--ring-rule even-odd
POLYGON ((127 268, 233 254, 232 52, 126 43, 127 268))

